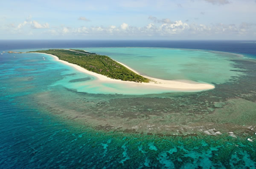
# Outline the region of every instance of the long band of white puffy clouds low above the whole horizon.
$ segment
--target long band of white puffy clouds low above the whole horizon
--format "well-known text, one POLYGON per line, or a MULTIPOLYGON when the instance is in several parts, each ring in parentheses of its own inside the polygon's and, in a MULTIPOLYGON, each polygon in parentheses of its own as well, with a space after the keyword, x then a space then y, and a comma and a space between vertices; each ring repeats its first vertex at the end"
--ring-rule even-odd
POLYGON ((48 23, 38 23, 37 21, 28 21, 31 17, 28 17, 23 23, 15 26, 14 24, 2 25, 2 29, 8 31, 11 34, 46 34, 59 37, 130 37, 130 38, 168 38, 168 37, 238 37, 245 35, 253 35, 256 30, 256 24, 253 23, 241 23, 239 24, 201 24, 201 23, 186 23, 181 20, 170 21, 169 19, 158 19, 156 17, 149 17, 152 23, 148 23, 144 26, 137 27, 122 23, 119 26, 109 25, 104 26, 82 26, 79 28, 70 28, 65 25, 60 27, 51 27, 46 31, 32 31, 29 28, 49 28, 48 23), (26 28, 23 28, 26 27, 26 28))

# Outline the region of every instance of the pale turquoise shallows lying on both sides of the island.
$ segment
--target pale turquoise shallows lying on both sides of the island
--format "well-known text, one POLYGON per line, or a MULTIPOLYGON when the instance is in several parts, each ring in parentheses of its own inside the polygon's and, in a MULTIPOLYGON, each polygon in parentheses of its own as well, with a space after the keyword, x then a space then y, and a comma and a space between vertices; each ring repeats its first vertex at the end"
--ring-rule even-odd
MULTIPOLYGON (((239 77, 243 73, 236 70, 230 58, 239 58, 234 54, 221 52, 192 51, 167 48, 85 48, 87 51, 105 54, 122 62, 139 73, 159 79, 175 80, 185 79, 196 82, 222 84, 230 79, 239 77), (143 64, 143 65, 142 65, 143 64)), ((25 50, 26 51, 26 50, 25 50)), ((28 54, 27 54, 28 55, 28 54)), ((54 61, 51 56, 38 54, 47 58, 46 62, 54 61)), ((70 74, 74 68, 56 63, 59 67, 66 68, 64 73, 70 74)), ((77 72, 77 71, 76 71, 77 72)), ((103 93, 103 94, 152 94, 175 92, 172 89, 148 87, 144 85, 123 84, 116 82, 100 82, 91 75, 77 72, 73 76, 65 76, 52 85, 63 85, 73 88, 78 92, 103 93), (75 82, 72 83, 74 79, 75 82)))

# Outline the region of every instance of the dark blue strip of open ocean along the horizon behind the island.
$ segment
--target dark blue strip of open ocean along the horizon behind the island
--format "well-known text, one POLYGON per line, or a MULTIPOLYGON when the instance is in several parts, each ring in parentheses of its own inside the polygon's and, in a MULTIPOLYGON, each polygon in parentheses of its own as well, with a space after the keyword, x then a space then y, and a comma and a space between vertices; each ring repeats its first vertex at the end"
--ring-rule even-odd
POLYGON ((93 47, 184 48, 256 55, 256 42, 251 40, 0 40, 1 50, 93 47))

